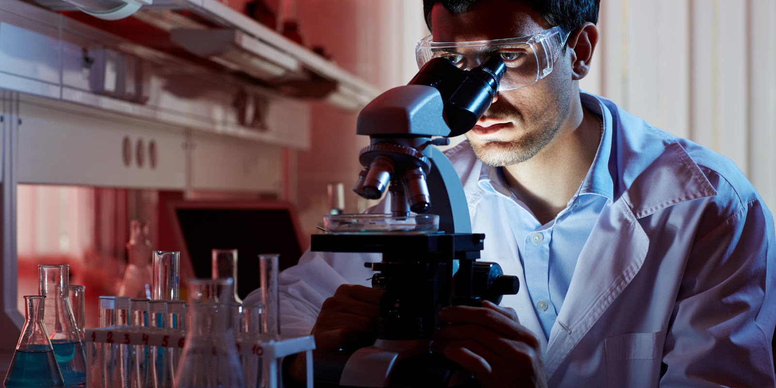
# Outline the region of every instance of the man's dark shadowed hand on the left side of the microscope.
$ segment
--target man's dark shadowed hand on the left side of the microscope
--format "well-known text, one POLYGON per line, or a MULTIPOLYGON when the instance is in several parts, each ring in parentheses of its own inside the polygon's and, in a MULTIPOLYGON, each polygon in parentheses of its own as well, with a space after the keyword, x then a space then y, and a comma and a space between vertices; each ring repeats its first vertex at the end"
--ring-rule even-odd
MULTIPOLYGON (((385 291, 353 284, 339 286, 334 296, 320 307, 310 334, 315 337, 314 355, 336 352, 341 348, 356 349, 372 345, 380 317, 380 296, 385 291)), ((304 383, 307 372, 304 357, 292 356, 289 375, 304 383)))

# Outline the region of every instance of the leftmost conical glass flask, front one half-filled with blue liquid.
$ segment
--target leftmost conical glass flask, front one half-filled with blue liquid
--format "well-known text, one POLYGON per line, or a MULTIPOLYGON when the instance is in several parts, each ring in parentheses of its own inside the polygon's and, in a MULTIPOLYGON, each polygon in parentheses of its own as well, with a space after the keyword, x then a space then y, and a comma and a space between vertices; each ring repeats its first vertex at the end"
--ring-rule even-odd
POLYGON ((64 386, 54 348, 43 324, 44 299, 46 296, 24 297, 27 316, 11 367, 5 376, 5 386, 64 386))

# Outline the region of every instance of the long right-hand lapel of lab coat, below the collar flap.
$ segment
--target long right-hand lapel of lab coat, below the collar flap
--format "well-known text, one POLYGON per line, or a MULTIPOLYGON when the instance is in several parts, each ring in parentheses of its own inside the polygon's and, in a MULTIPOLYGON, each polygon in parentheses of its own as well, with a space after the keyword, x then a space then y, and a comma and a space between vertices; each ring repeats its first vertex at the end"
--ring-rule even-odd
POLYGON ((633 215, 627 193, 601 217, 580 252, 566 300, 549 336, 547 379, 622 293, 646 258, 650 239, 633 215))

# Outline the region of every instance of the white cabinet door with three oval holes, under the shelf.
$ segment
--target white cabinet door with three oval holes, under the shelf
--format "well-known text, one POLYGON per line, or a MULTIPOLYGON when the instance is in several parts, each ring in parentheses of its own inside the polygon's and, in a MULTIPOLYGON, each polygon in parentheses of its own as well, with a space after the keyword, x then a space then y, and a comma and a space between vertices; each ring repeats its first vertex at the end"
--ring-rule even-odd
POLYGON ((185 188, 185 132, 23 95, 19 183, 185 188))

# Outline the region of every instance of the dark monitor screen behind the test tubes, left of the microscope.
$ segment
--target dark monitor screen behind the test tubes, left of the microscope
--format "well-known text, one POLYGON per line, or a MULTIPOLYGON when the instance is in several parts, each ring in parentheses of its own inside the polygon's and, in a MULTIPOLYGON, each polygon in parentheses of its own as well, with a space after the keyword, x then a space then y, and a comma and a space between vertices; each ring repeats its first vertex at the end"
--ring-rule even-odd
POLYGON ((299 261, 303 248, 289 203, 186 201, 171 203, 181 251, 181 276, 210 278, 211 249, 237 249, 237 295, 259 287, 258 255, 280 254, 280 270, 299 261))

